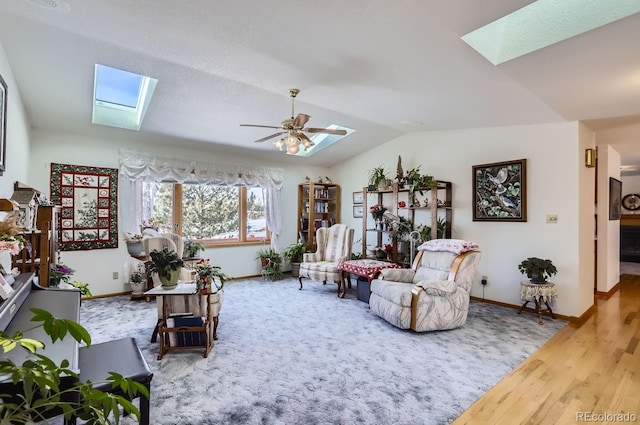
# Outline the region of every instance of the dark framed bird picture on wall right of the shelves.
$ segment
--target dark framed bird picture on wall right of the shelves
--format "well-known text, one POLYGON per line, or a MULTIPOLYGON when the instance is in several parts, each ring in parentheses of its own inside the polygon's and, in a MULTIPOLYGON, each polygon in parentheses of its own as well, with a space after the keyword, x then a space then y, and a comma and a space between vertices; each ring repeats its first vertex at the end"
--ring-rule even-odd
POLYGON ((527 221, 527 160, 473 167, 473 221, 527 221))

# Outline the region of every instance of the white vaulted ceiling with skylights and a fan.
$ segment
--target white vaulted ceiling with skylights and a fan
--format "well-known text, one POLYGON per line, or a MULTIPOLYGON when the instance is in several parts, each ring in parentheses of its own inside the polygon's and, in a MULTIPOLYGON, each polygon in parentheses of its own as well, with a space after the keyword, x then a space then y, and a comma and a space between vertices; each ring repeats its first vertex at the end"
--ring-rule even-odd
POLYGON ((0 42, 43 130, 328 166, 410 131, 586 120, 640 151, 640 14, 499 66, 460 40, 528 3, 0 0, 0 42), (159 80, 140 132, 91 124, 96 63, 159 80), (310 158, 253 143, 273 131, 239 124, 278 125, 293 87, 309 126, 357 132, 310 158))

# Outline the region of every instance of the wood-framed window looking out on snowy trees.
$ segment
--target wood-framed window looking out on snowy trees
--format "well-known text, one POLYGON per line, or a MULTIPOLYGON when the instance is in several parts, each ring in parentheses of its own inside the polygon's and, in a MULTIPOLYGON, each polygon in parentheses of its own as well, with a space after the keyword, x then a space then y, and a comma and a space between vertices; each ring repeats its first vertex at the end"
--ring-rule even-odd
POLYGON ((142 190, 142 218, 160 232, 212 245, 269 238, 262 188, 143 183, 142 190))

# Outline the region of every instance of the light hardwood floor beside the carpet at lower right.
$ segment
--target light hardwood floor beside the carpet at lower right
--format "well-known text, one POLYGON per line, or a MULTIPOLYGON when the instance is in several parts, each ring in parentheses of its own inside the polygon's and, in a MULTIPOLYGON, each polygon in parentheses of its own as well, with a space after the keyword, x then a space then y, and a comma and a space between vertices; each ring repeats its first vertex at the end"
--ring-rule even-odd
POLYGON ((567 325, 453 424, 640 422, 639 340, 640 276, 623 275, 591 317, 567 325))

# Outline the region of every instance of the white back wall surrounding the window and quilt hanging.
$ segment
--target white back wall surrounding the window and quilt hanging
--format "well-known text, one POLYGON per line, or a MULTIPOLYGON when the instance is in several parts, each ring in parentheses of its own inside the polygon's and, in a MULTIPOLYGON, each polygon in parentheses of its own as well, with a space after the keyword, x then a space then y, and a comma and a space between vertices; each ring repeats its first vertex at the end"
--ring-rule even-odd
MULTIPOLYGON (((126 131, 123 131, 126 136, 126 131)), ((122 139, 95 139, 68 133, 33 131, 33 157, 29 173, 29 184, 45 193, 49 193, 50 164, 78 164, 93 167, 118 168, 118 151, 120 148, 130 150, 151 151, 158 154, 173 155, 181 158, 210 161, 212 163, 247 164, 276 166, 264 161, 251 161, 244 157, 233 157, 217 153, 214 148, 188 149, 163 145, 148 145, 122 139)), ((284 167, 282 167, 284 168, 284 167)), ((328 170, 320 167, 286 167, 285 186, 282 190, 283 232, 280 236, 279 248, 282 250, 297 238, 297 197, 298 183, 306 175, 326 176, 328 170)), ((119 211, 128 208, 119 205, 119 211)), ((128 291, 129 286, 122 278, 125 262, 129 259, 126 244, 120 240, 117 249, 101 249, 89 251, 64 251, 62 261, 76 269, 73 278, 91 284, 95 295, 112 294, 128 291), (112 279, 113 272, 120 273, 120 279, 112 279)), ((208 249, 203 256, 222 266, 223 271, 231 277, 259 275, 260 266, 255 260, 255 252, 261 245, 218 247, 208 249)))

